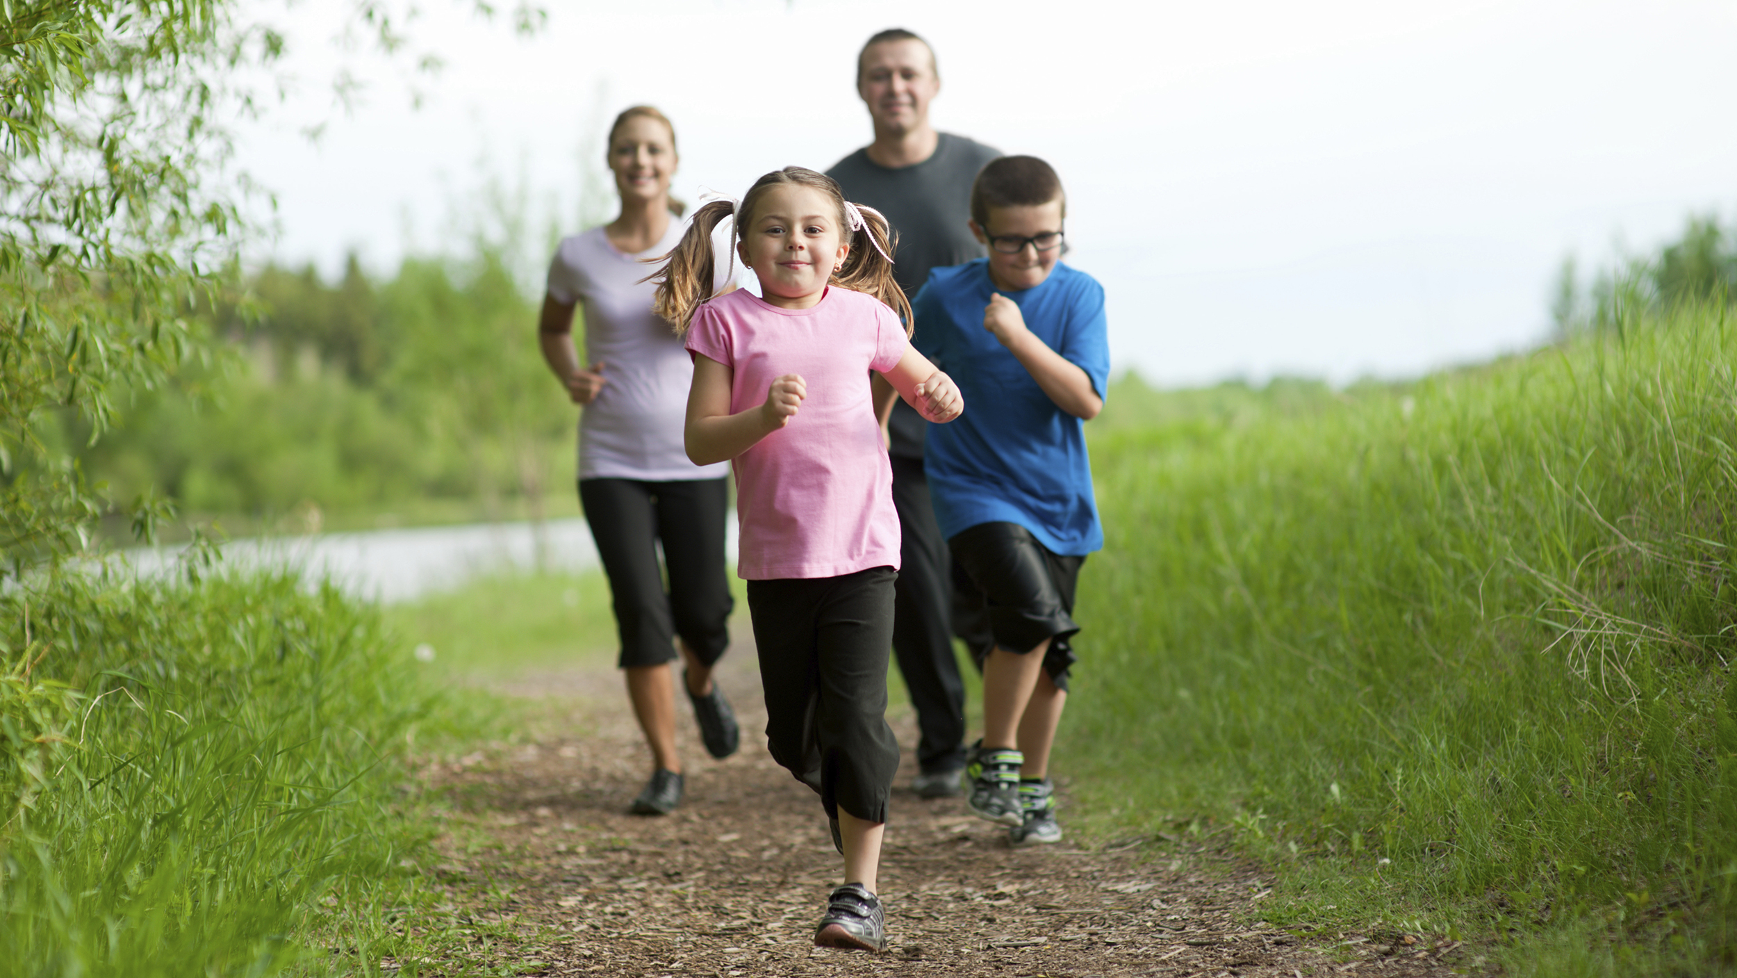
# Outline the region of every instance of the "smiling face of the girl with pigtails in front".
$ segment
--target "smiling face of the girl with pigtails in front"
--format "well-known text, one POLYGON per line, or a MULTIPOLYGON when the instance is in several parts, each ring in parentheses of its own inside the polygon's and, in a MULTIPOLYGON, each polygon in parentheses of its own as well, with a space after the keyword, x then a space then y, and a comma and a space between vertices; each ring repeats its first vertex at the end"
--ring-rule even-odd
POLYGON ((801 184, 778 184, 761 195, 736 248, 742 264, 759 276, 766 302, 783 309, 820 302, 827 280, 851 254, 837 202, 801 184))

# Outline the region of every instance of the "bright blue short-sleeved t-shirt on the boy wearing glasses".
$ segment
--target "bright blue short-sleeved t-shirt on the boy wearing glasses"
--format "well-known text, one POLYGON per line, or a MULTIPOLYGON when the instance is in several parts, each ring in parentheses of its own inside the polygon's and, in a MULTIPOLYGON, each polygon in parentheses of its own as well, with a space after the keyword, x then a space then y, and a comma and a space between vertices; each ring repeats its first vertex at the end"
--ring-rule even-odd
MULTIPOLYGON (((1007 347, 983 328, 997 292, 988 259, 938 268, 912 306, 912 344, 952 375, 966 413, 931 424, 924 471, 943 537, 980 523, 1018 523, 1056 554, 1103 547, 1086 457, 1086 426, 1058 408, 1007 347)), ((1023 292, 1002 292, 1025 327, 1091 377, 1105 396, 1110 337, 1103 287, 1061 262, 1023 292)))

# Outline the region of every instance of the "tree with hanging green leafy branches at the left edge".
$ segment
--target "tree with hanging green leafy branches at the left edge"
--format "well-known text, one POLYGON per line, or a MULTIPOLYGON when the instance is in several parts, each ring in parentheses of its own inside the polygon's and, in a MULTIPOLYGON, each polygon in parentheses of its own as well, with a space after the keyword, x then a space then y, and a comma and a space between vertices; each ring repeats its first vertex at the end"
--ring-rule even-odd
MULTIPOLYGON (((200 349, 240 245, 226 75, 281 42, 215 0, 42 0, 0 23, 0 573, 78 549, 97 497, 45 438, 200 349)), ((141 499, 141 530, 160 509, 141 499)))

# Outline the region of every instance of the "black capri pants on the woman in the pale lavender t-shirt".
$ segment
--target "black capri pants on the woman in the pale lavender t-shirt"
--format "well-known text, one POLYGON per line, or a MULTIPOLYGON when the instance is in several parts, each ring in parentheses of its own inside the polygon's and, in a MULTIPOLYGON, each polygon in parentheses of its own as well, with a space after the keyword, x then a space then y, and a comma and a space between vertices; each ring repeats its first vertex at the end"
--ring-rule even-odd
POLYGON ((717 662, 730 646, 733 605, 724 570, 726 481, 580 479, 578 504, 610 577, 620 667, 676 658, 676 636, 702 664, 717 662))

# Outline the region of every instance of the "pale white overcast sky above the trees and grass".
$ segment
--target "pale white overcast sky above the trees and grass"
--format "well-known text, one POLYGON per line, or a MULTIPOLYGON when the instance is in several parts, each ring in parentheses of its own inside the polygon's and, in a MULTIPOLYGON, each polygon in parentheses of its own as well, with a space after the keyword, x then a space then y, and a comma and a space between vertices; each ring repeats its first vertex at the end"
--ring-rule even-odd
POLYGON ((1117 367, 1171 386, 1522 349, 1565 255, 1737 217, 1737 0, 551 0, 528 40, 424 2, 415 47, 446 68, 413 82, 332 43, 339 0, 267 14, 297 85, 238 163, 278 196, 280 261, 462 252, 448 215, 486 174, 578 231, 580 148, 636 102, 676 122, 688 200, 830 167, 870 139, 853 63, 888 26, 933 42, 940 129, 1056 165, 1117 367))

